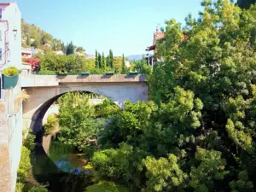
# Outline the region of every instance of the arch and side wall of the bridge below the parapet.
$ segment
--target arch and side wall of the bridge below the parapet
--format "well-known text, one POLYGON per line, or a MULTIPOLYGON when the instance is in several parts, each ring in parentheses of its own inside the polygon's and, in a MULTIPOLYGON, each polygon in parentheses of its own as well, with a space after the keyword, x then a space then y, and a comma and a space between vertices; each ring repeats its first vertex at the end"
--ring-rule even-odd
POLYGON ((67 83, 58 86, 26 87, 30 99, 23 103, 23 127, 39 131, 44 114, 60 96, 67 92, 82 91, 106 96, 124 107, 125 101, 148 101, 148 86, 144 83, 67 83))

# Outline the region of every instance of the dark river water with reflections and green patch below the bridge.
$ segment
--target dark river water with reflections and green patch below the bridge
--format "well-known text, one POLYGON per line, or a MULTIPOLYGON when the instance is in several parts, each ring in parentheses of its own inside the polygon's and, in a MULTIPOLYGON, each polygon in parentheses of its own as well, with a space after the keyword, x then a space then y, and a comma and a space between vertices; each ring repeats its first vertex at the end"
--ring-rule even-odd
POLYGON ((90 155, 84 154, 52 137, 49 154, 41 145, 31 157, 32 172, 26 184, 46 184, 51 192, 128 192, 116 183, 95 182, 90 166, 90 155))

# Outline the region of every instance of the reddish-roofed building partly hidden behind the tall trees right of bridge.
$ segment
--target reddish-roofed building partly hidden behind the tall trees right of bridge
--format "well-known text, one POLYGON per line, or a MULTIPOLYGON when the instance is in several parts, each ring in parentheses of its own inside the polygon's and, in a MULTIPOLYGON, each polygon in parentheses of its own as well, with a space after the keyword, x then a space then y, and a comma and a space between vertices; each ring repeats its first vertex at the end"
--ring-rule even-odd
POLYGON ((157 49, 156 49, 156 44, 157 41, 165 38, 165 32, 159 32, 159 29, 156 28, 155 32, 154 32, 154 37, 153 37, 153 44, 151 46, 148 46, 146 51, 148 51, 148 54, 145 56, 145 59, 147 60, 148 65, 152 65, 154 64, 155 61, 159 61, 157 58, 154 58, 154 55, 157 53, 157 49), (149 54, 149 51, 154 51, 154 55, 149 54))

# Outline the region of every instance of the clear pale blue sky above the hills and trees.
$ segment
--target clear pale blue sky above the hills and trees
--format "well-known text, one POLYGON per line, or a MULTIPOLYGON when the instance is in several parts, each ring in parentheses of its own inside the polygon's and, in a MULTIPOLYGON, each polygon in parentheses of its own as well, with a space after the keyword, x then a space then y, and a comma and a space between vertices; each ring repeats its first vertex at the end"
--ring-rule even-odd
MULTIPOLYGON (((17 0, 22 18, 65 44, 113 55, 137 55, 153 42, 158 24, 196 16, 201 0, 17 0)), ((106 54, 105 54, 106 55, 106 54)))

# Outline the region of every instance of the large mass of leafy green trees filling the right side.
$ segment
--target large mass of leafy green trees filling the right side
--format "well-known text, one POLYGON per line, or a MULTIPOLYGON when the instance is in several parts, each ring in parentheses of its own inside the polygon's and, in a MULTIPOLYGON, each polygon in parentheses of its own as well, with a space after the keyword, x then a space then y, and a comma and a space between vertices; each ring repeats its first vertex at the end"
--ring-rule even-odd
POLYGON ((253 191, 256 186, 256 6, 202 2, 167 20, 151 102, 125 103, 102 131, 100 177, 134 191, 253 191))

